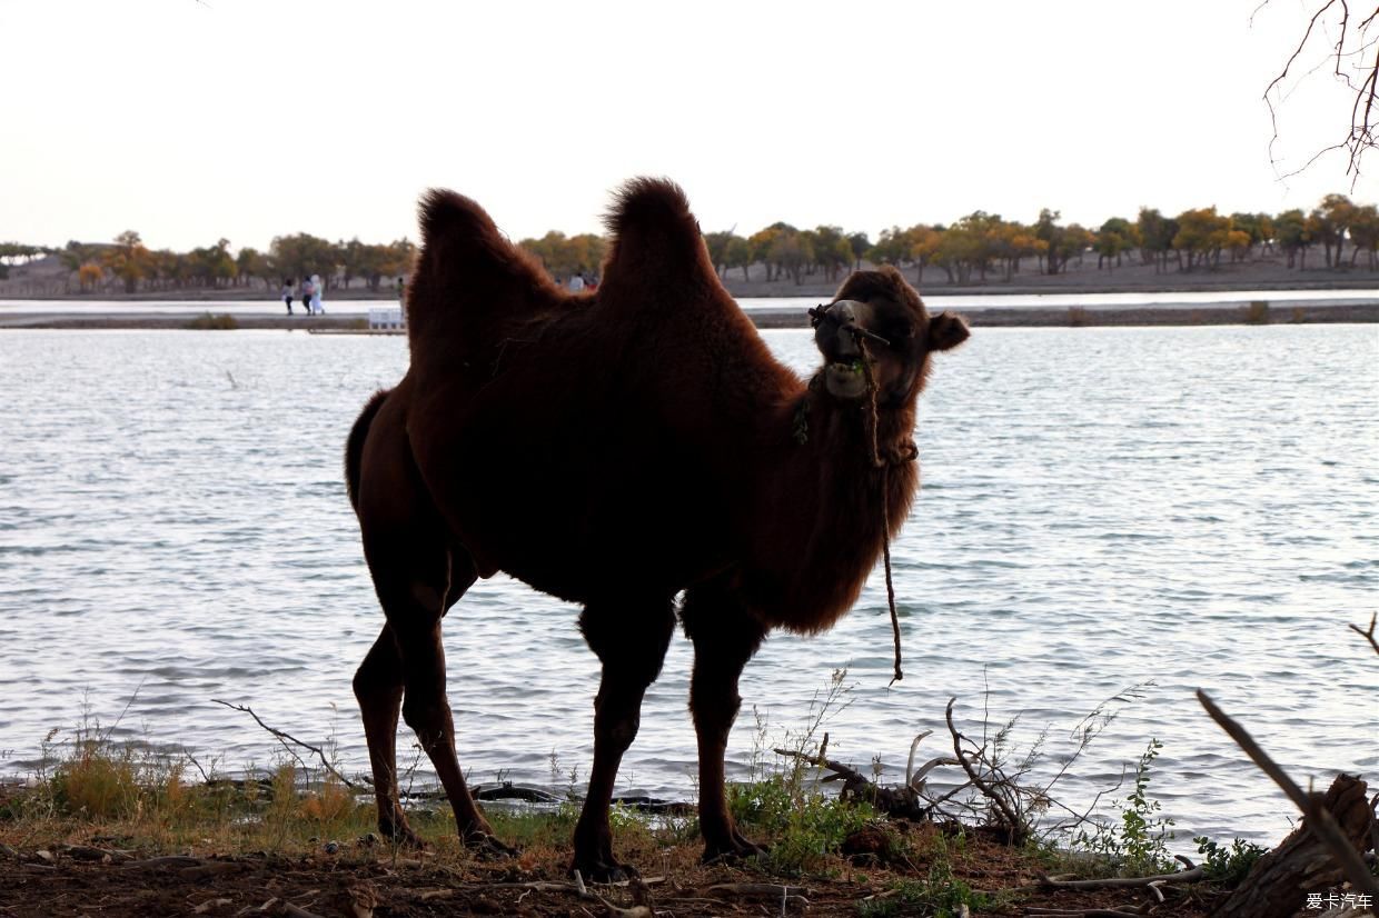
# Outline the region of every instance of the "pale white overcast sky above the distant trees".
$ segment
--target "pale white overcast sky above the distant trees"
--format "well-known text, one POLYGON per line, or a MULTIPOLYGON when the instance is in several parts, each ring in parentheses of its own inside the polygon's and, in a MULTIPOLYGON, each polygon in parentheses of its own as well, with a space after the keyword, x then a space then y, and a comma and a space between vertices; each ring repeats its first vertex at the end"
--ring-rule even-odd
POLYGON ((601 232, 634 175, 742 234, 1371 203, 1340 156, 1282 178, 1345 136, 1324 72, 1270 150, 1314 7, 0 0, 0 240, 415 240, 432 186, 514 240, 601 232))

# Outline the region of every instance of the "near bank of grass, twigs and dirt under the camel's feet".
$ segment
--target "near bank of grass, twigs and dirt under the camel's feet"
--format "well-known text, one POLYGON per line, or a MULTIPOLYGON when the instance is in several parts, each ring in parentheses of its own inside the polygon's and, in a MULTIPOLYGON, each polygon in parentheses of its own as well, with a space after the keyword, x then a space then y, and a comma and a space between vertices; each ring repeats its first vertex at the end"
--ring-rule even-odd
MULTIPOLYGON (((1151 790, 1171 780, 1154 768, 1156 740, 1131 765, 1128 786, 1105 788, 1085 809, 1056 799, 1059 779, 1136 689, 1084 718, 1071 748, 1058 753, 1047 731, 1018 748, 1014 720, 971 724, 982 737, 971 742, 950 704, 947 740, 963 761, 943 751, 920 765, 921 736, 905 783, 887 788, 880 769, 865 777, 829 758, 822 728, 848 691, 837 673, 779 746, 756 722, 750 775, 731 787, 729 805, 767 855, 701 864, 692 806, 627 799, 612 812, 615 844, 644 879, 615 886, 567 877, 579 776, 554 753, 550 788, 483 794, 538 801, 485 804, 498 837, 521 849, 485 860, 456 842, 444 797, 418 790, 411 772, 404 805, 426 848, 381 838, 368 788, 332 764, 332 736, 303 743, 229 706, 280 743, 274 761, 229 775, 185 750, 112 742, 110 729, 88 720, 61 747, 48 744, 50 733, 26 784, 0 786, 0 904, 14 915, 98 907, 105 915, 308 918, 1205 915, 1229 906, 1265 849, 1202 837, 1193 839, 1200 864, 1175 856, 1172 820, 1151 790), (943 769, 956 777, 940 779, 943 769), (829 793, 841 775, 843 793, 829 793), (1114 801, 1109 819, 1092 813, 1102 797, 1114 801), (913 812, 898 815, 896 801, 913 812)), ((1362 793, 1361 784, 1361 804, 1362 793)))

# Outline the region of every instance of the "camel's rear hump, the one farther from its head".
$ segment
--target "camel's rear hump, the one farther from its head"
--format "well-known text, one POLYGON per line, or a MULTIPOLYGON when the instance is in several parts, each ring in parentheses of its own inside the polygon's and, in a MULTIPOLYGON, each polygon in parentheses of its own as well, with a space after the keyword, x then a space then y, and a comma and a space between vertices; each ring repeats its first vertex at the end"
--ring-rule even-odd
POLYGON ((407 295, 414 345, 432 334, 481 331, 494 310, 512 317, 549 298, 554 284, 541 265, 507 241, 479 204, 432 189, 419 205, 422 248, 407 295))

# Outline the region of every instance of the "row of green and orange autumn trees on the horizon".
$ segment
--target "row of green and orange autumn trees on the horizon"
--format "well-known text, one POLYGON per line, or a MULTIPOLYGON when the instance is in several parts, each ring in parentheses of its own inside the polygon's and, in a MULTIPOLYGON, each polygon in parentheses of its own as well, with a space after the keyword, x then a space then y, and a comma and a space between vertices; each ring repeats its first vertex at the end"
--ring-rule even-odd
MULTIPOLYGON (((1009 280, 1033 265, 1041 274, 1059 274, 1073 259, 1096 255, 1096 267, 1114 270, 1127 258, 1153 265, 1156 273, 1169 270, 1214 270, 1225 258, 1240 263, 1256 256, 1282 256, 1288 267, 1305 269, 1309 251, 1321 249, 1328 269, 1357 267, 1361 254, 1368 270, 1379 270, 1379 208, 1356 204, 1345 194, 1328 194, 1303 211, 1281 214, 1218 214, 1215 207, 1165 216, 1157 208, 1142 207, 1134 221, 1113 216, 1099 227, 1063 223, 1058 211, 1043 210, 1033 223, 1003 219, 997 214, 974 211, 945 226, 916 223, 883 230, 873 243, 866 233, 848 233, 837 226, 797 229, 772 223, 750 236, 732 232, 705 234, 709 256, 720 276, 741 269, 749 280, 754 265, 765 267, 768 281, 823 274, 836 281, 840 273, 863 261, 916 270, 942 270, 949 283, 985 283, 993 274, 1009 280), (1343 249, 1349 243, 1349 259, 1343 249)), ((535 255, 556 278, 575 273, 594 274, 608 243, 603 236, 565 236, 552 230, 541 238, 519 243, 535 255)), ((320 274, 328 287, 350 287, 356 280, 379 289, 386 278, 411 270, 416 247, 407 238, 386 245, 350 241, 331 243, 298 233, 279 236, 266 252, 230 243, 189 252, 146 248, 134 230, 109 244, 68 243, 48 249, 18 243, 0 243, 0 278, 8 265, 43 255, 57 255, 80 289, 120 284, 138 289, 179 289, 240 287, 262 280, 269 288, 287 278, 320 274)))

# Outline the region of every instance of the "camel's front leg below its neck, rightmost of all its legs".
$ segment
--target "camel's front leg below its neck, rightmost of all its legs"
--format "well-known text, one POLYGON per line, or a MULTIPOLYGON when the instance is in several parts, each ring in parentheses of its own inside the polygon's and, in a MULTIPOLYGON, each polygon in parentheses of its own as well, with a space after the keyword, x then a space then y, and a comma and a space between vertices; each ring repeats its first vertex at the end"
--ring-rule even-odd
POLYGON ((763 853, 738 831, 728 812, 723 757, 738 715, 738 677, 761 646, 765 629, 727 590, 703 584, 685 591, 680 609, 685 634, 694 642, 690 711, 699 740, 699 830, 703 860, 749 857, 763 853))

